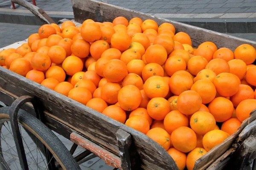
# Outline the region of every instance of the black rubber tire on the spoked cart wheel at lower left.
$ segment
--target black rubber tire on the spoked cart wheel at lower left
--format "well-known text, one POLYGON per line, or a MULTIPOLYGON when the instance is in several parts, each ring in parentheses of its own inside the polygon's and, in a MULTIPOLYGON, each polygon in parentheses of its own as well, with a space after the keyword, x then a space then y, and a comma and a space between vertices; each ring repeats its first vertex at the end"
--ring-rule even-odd
MULTIPOLYGON (((0 108, 0 113, 8 115, 7 113, 9 108, 10 107, 0 108)), ((0 119, 4 119, 3 116, 0 116, 0 119)), ((44 140, 44 142, 49 146, 49 148, 52 149, 58 159, 62 162, 66 170, 81 170, 69 150, 67 150, 60 139, 58 139, 58 137, 40 120, 21 109, 18 111, 18 120, 22 125, 25 124, 29 126, 32 130, 35 131, 35 133, 38 134, 38 136, 44 140)), ((25 127, 23 126, 23 128, 25 127)), ((62 168, 64 169, 64 167, 62 168)))

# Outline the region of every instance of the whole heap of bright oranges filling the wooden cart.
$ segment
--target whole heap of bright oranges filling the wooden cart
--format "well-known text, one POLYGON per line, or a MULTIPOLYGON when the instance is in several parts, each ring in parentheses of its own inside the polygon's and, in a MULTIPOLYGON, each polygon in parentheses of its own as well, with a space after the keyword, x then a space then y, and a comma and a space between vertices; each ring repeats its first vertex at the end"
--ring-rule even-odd
POLYGON ((146 134, 180 170, 192 170, 256 108, 255 59, 251 45, 195 48, 172 24, 124 17, 43 25, 0 51, 2 67, 146 134))

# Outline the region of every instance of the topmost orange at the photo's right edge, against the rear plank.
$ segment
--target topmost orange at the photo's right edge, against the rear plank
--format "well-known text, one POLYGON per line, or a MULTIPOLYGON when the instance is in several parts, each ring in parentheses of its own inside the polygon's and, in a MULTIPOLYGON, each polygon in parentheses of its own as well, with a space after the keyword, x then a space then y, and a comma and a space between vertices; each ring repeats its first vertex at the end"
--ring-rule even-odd
POLYGON ((249 44, 239 45, 234 51, 234 58, 243 60, 246 65, 252 64, 256 59, 256 50, 249 44))

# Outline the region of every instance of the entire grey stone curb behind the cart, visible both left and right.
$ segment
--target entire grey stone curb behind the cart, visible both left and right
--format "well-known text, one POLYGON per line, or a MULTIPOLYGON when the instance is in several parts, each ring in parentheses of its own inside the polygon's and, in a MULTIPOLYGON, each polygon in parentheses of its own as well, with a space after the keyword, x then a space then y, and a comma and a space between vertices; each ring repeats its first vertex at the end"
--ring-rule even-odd
MULTIPOLYGON (((74 19, 73 15, 49 14, 58 23, 64 18, 74 19)), ((166 18, 192 26, 205 28, 220 33, 256 33, 256 18, 166 18)), ((24 25, 43 25, 44 23, 34 14, 0 11, 1 23, 24 25)))

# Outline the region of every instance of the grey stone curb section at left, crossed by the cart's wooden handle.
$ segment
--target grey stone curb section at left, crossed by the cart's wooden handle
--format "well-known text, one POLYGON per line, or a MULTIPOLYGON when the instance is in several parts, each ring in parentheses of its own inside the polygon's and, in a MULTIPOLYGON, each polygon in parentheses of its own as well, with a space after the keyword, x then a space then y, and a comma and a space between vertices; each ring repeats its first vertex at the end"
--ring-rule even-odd
MULTIPOLYGON (((59 20, 64 18, 68 20, 74 19, 73 15, 57 15, 57 14, 49 14, 49 17, 58 23, 59 20)), ((17 13, 17 12, 6 12, 0 11, 0 22, 1 23, 14 23, 14 24, 24 24, 24 25, 35 25, 41 26, 43 23, 38 17, 35 17, 34 14, 29 13, 17 13)))

